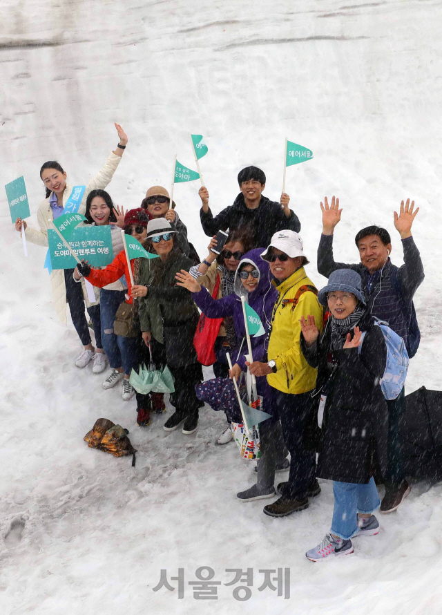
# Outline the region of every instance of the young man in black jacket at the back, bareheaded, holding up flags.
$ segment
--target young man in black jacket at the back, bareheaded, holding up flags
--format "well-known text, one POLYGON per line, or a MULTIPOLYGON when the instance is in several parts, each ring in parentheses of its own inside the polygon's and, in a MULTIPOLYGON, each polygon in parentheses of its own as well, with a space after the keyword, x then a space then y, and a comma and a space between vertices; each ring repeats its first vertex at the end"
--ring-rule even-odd
POLYGON ((283 229, 299 233, 301 225, 298 216, 289 209, 290 197, 282 193, 280 202, 262 196, 265 189, 265 173, 258 167, 246 167, 238 174, 241 192, 233 205, 222 209, 213 217, 209 207, 209 192, 200 189, 202 208, 200 218, 202 229, 209 237, 219 230, 244 231, 253 247, 267 247, 273 234, 283 229))

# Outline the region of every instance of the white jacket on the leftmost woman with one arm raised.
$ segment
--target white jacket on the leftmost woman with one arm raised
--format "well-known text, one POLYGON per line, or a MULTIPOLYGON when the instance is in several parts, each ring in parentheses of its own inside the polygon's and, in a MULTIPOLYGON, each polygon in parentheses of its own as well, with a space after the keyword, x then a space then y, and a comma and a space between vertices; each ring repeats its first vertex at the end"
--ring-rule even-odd
MULTIPOLYGON (((90 182, 86 186, 83 200, 81 200, 81 204, 78 210, 79 214, 84 214, 84 212, 86 211, 86 198, 88 196, 88 193, 95 189, 106 188, 108 183, 111 182, 113 174, 117 170, 117 167, 121 160, 121 156, 118 156, 117 154, 111 152, 108 159, 104 163, 104 167, 100 171, 98 171, 98 173, 90 180, 90 182)), ((70 197, 72 189, 72 186, 66 185, 63 194, 63 206, 66 205, 66 201, 70 197)), ((46 245, 46 247, 48 246, 48 220, 53 220, 53 216, 52 209, 49 204, 49 198, 46 198, 43 202, 41 202, 39 210, 37 211, 37 221, 39 223, 40 230, 37 231, 37 229, 33 229, 29 225, 26 227, 26 239, 30 241, 30 243, 35 243, 37 245, 46 245)), ((54 300, 57 316, 62 323, 66 324, 66 287, 64 284, 64 269, 52 269, 52 273, 50 274, 50 286, 52 289, 52 299, 54 300)), ((95 303, 89 303, 86 296, 86 307, 89 308, 90 305, 95 305, 95 303)))

